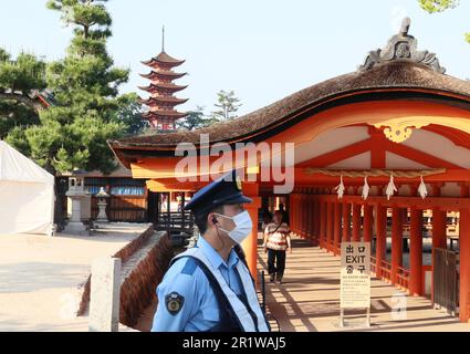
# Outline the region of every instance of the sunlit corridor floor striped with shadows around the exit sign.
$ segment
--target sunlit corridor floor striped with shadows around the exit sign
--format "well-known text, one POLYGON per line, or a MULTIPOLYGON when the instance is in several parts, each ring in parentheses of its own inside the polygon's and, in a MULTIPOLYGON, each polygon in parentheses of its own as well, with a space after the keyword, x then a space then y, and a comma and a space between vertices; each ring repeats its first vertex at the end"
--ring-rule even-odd
MULTIPOLYGON (((261 244, 261 235, 260 235, 261 244)), ((470 325, 460 323, 443 310, 435 310, 426 298, 406 295, 393 285, 372 279, 370 327, 362 326, 365 311, 346 311, 346 325, 340 323, 341 259, 326 250, 312 247, 305 240, 293 238, 293 252, 288 253, 284 282, 269 282, 265 275, 268 312, 278 319, 282 332, 331 331, 466 331, 470 325), (398 298, 396 296, 398 293, 398 298), (406 300, 406 316, 393 316, 396 301, 406 300)), ((267 270, 267 254, 259 248, 258 269, 267 270)), ((275 330, 273 327, 273 330, 275 330)))

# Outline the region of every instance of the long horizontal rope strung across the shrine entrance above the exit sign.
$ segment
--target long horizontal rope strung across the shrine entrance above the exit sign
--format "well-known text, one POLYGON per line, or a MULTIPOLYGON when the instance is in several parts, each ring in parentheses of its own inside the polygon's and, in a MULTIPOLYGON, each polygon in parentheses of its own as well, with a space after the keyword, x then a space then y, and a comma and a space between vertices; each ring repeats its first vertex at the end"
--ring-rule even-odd
POLYGON ((397 178, 418 178, 427 177, 432 175, 439 175, 446 173, 446 168, 424 169, 424 170, 393 170, 393 169, 369 169, 369 170, 338 170, 338 169, 325 169, 325 168, 312 168, 307 167, 304 169, 307 175, 322 174, 332 177, 388 177, 394 175, 397 178))

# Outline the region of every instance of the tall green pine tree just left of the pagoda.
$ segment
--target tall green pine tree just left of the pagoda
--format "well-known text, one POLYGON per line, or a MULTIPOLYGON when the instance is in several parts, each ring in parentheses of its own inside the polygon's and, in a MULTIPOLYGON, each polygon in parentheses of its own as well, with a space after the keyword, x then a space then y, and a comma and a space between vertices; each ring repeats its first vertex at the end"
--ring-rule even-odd
POLYGON ((48 2, 74 30, 66 56, 46 67, 55 105, 40 112, 40 124, 13 128, 7 140, 51 173, 75 168, 111 173, 116 166, 106 140, 127 132, 125 121, 130 118, 119 117, 136 108, 132 97, 118 96, 128 70, 115 67, 106 51, 112 19, 104 2, 48 2))

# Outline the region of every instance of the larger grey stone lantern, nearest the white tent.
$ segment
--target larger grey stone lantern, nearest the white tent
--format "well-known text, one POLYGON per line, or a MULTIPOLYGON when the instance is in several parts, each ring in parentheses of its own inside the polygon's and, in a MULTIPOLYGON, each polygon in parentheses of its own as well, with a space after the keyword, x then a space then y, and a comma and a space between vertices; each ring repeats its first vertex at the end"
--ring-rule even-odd
POLYGON ((72 200, 72 215, 64 232, 72 235, 86 233, 86 226, 82 222, 82 199, 87 194, 85 191, 85 178, 79 171, 74 171, 69 178, 69 190, 65 195, 72 200))

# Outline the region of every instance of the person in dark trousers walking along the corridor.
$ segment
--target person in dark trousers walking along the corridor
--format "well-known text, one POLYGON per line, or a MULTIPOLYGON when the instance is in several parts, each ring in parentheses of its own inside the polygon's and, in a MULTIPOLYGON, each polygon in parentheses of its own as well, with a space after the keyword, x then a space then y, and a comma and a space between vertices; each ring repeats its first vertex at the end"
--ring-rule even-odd
POLYGON ((264 229, 264 252, 268 252, 268 273, 270 281, 278 284, 282 283, 285 270, 285 253, 291 247, 291 230, 283 220, 283 212, 276 210, 272 222, 264 229))

